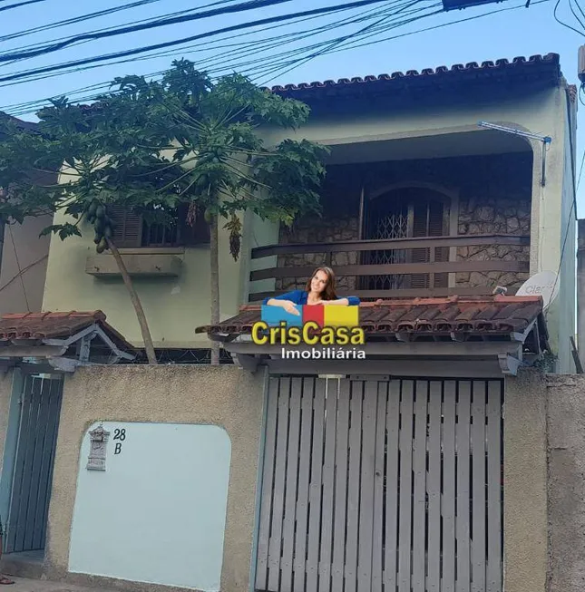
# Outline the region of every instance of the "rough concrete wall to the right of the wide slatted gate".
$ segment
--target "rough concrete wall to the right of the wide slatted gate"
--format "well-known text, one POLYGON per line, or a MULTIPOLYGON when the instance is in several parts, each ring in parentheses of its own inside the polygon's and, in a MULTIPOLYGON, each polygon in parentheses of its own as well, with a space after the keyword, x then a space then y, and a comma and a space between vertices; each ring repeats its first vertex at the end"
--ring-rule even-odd
POLYGON ((585 375, 506 379, 507 592, 582 592, 585 582, 585 375))

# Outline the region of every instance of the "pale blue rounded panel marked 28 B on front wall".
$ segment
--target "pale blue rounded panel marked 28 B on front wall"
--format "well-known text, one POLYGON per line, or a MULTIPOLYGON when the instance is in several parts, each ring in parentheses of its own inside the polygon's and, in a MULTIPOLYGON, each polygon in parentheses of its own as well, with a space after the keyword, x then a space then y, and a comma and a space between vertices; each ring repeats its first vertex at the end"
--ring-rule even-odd
POLYGON ((219 592, 230 453, 216 425, 94 423, 79 460, 69 571, 219 592), (110 432, 104 471, 88 468, 100 425, 110 432), (96 545, 102 532, 108 543, 96 545), (172 548, 163 561, 161 548, 172 548))

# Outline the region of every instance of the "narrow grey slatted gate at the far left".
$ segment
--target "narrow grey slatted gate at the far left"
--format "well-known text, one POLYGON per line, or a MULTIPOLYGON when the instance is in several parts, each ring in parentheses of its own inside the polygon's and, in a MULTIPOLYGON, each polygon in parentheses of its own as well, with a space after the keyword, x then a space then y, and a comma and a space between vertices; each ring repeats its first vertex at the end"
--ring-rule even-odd
POLYGON ((62 377, 24 379, 6 553, 44 549, 62 394, 62 377))

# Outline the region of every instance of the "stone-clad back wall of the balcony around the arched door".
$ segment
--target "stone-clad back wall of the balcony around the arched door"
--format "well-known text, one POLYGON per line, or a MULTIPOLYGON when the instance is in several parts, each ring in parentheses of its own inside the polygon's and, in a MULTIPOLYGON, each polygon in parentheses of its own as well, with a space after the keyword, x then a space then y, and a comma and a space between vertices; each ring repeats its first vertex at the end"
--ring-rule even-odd
MULTIPOLYGON (((531 177, 530 153, 499 154, 434 160, 377 162, 366 171, 368 191, 400 183, 423 182, 449 188, 459 195, 458 234, 530 234, 531 177)), ((358 211, 361 181, 356 168, 331 167, 323 188, 323 217, 299 219, 292 228, 281 228, 280 243, 307 243, 356 240, 359 238, 358 211)), ((317 267, 326 263, 326 254, 278 257, 278 267, 317 267)), ((333 253, 335 269, 359 263, 359 253, 333 253)), ((530 261, 530 247, 489 245, 458 247, 457 260, 530 261)), ((517 288, 528 274, 473 272, 455 275, 456 286, 495 285, 517 288)), ((304 287, 307 277, 283 277, 277 290, 304 287)), ((356 277, 337 277, 340 290, 357 288, 356 277)))

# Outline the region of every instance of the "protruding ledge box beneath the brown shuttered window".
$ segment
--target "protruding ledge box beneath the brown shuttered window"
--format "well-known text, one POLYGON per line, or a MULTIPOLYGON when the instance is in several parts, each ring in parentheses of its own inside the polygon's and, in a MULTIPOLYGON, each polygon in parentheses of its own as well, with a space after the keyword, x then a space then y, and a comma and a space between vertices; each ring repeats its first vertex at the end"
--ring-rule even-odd
MULTIPOLYGON (((132 277, 179 277, 183 249, 120 249, 128 273, 132 277), (178 251, 178 252, 177 252, 178 251)), ((93 277, 122 277, 110 253, 90 255, 85 261, 85 273, 93 277)))

